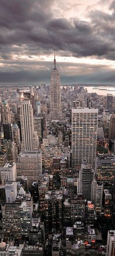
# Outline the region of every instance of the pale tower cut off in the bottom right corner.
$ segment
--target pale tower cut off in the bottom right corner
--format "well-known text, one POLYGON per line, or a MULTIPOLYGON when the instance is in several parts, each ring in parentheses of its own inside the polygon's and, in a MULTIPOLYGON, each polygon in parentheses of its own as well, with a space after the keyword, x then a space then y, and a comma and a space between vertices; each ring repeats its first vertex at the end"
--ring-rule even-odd
POLYGON ((106 256, 115 256, 115 230, 108 231, 106 256))

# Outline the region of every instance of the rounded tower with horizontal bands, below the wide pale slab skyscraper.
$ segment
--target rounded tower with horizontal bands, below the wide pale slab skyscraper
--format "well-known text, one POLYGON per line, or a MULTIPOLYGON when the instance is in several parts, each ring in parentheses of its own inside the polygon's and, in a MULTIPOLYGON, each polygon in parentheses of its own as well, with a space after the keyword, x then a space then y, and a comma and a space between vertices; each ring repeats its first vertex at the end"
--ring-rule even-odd
POLYGON ((95 171, 87 165, 87 160, 82 160, 79 178, 77 178, 77 194, 83 194, 88 201, 96 199, 96 178, 95 171))

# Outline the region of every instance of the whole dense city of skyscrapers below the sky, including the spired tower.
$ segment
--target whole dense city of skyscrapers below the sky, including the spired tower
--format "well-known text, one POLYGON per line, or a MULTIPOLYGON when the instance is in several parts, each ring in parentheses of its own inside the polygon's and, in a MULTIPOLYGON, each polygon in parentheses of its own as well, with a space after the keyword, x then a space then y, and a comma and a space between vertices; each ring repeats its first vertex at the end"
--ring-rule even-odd
POLYGON ((115 98, 0 87, 0 256, 115 256, 115 98))

